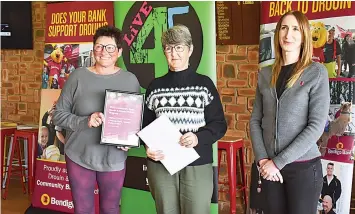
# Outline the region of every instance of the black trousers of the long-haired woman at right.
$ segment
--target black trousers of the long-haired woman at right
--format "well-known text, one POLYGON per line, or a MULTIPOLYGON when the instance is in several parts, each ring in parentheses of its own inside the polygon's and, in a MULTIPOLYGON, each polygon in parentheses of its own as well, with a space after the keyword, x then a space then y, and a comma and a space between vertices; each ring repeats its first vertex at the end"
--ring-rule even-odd
POLYGON ((314 214, 323 187, 319 158, 295 162, 281 170, 284 182, 262 180, 264 214, 314 214))

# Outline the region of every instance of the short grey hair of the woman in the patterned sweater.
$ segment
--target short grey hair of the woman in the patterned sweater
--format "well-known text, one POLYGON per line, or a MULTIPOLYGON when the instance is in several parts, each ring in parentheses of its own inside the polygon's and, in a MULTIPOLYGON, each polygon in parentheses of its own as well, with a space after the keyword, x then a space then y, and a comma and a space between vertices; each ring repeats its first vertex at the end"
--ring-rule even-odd
POLYGON ((175 25, 163 33, 161 43, 163 47, 175 44, 184 44, 191 47, 192 38, 190 30, 185 25, 175 25))

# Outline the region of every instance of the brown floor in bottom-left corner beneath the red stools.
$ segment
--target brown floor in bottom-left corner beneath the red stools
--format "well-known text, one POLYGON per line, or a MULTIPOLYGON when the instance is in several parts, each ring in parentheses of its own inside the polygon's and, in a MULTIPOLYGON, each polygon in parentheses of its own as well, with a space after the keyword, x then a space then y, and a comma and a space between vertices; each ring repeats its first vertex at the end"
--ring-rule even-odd
POLYGON ((31 204, 28 193, 22 192, 20 180, 11 180, 6 200, 2 199, 3 193, 4 189, 1 191, 1 214, 24 214, 31 204))

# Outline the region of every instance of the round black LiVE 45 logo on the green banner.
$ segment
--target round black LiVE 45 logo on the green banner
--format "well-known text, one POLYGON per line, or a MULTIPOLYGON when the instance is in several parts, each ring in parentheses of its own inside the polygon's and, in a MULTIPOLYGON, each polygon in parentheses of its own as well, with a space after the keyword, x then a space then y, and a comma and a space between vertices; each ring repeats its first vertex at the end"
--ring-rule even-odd
POLYGON ((196 70, 202 56, 203 35, 199 17, 189 2, 135 2, 127 12, 122 26, 122 58, 143 88, 168 71, 161 36, 176 24, 185 25, 191 32, 194 50, 190 67, 196 70))

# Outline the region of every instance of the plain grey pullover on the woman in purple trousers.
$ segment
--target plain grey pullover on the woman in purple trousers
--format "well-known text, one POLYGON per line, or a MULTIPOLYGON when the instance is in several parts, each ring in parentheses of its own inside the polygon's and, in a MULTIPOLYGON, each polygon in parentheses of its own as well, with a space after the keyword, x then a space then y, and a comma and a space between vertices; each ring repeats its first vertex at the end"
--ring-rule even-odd
POLYGON ((56 126, 67 130, 65 153, 75 163, 95 171, 118 171, 125 167, 127 152, 101 145, 101 126, 88 127, 94 112, 103 112, 105 89, 139 92, 136 76, 120 70, 98 75, 87 68, 70 74, 53 113, 56 126))

